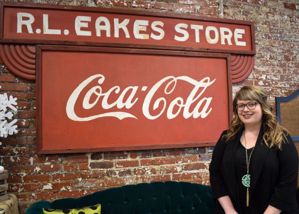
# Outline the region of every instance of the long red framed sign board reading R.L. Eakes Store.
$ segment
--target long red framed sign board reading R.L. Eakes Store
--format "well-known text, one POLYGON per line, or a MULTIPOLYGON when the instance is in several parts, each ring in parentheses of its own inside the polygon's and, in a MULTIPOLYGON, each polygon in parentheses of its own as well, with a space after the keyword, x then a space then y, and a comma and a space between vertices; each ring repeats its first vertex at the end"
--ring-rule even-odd
POLYGON ((5 2, 1 5, 1 43, 88 46, 104 43, 118 47, 142 44, 156 49, 187 47, 196 51, 255 54, 253 22, 111 8, 5 2))

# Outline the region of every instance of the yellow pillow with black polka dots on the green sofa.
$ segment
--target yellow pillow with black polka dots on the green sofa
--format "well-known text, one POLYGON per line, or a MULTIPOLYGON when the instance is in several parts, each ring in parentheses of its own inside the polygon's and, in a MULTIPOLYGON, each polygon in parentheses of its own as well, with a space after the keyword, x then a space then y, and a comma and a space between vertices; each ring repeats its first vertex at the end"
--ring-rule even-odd
POLYGON ((101 214, 101 205, 97 204, 90 207, 83 207, 81 209, 74 208, 65 210, 42 208, 42 212, 44 214, 101 214))

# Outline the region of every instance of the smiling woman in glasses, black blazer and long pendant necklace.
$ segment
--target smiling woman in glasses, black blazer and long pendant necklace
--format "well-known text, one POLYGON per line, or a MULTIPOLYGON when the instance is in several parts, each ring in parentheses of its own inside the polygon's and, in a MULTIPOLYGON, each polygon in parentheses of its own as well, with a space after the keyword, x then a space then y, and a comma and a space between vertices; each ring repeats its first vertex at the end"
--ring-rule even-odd
POLYGON ((298 153, 271 112, 267 92, 243 86, 234 119, 213 151, 210 183, 216 214, 297 214, 298 153))

